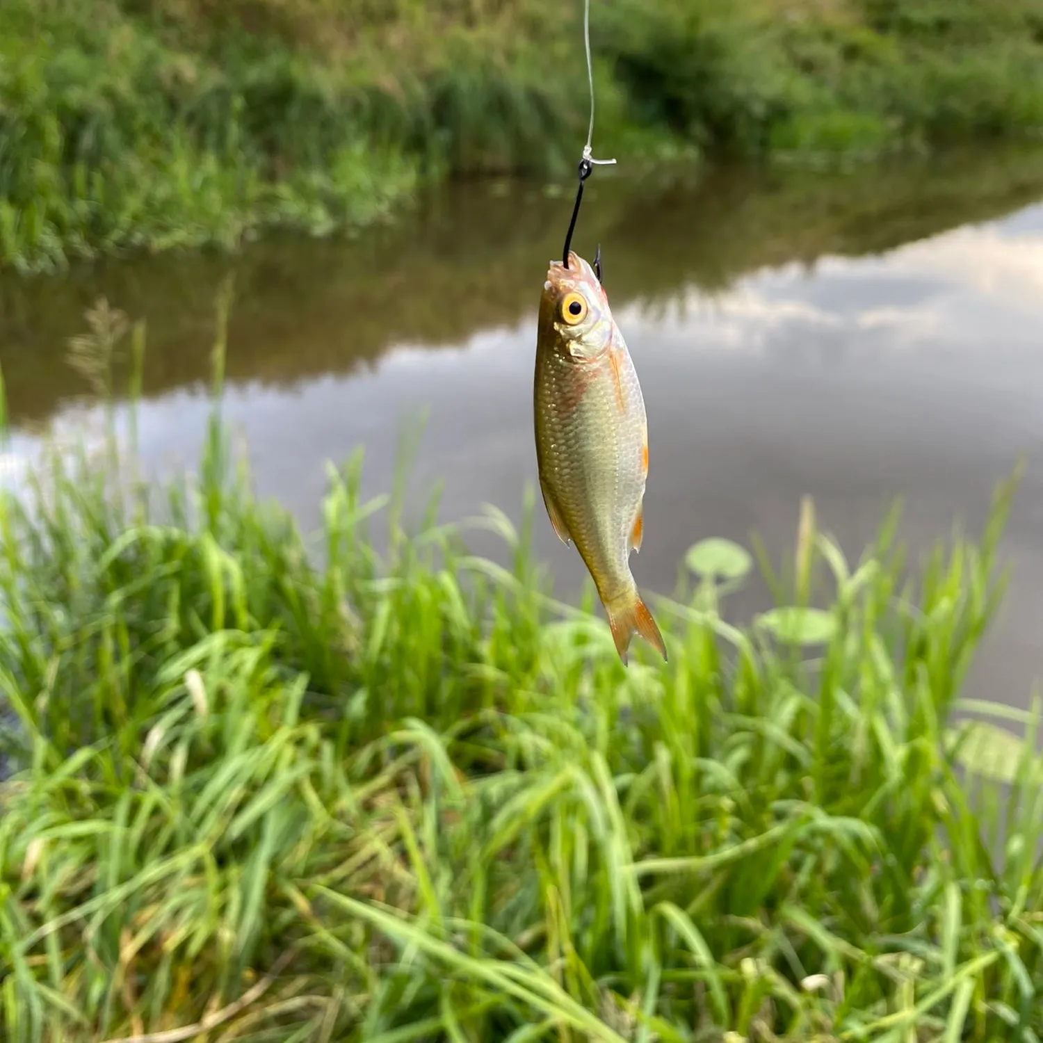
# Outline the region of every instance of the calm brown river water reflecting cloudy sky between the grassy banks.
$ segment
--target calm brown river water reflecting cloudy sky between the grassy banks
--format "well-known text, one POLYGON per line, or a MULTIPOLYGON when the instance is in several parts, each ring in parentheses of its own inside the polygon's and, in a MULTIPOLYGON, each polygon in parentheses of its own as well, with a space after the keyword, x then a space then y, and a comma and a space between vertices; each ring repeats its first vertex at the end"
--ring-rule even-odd
MULTIPOLYGON (((1043 155, 957 153, 849 173, 722 171, 628 184, 598 171, 575 245, 605 285, 645 391, 651 470, 633 568, 670 592, 684 551, 756 531, 790 552, 801 496, 857 556, 895 498, 914 557, 959 515, 974 532, 1027 459, 1004 542, 1015 567, 971 679, 1024 705, 1043 674, 1043 155)), ((236 259, 107 263, 0 282, 8 471, 99 410, 64 360, 99 294, 148 321, 144 456, 193 463, 208 410, 214 297, 236 274, 226 417, 257 486, 318 519, 324 462, 366 450, 388 488, 404 419, 441 513, 515 517, 535 482, 535 310, 571 189, 461 186, 354 241, 281 237, 236 259)), ((537 515, 558 587, 585 578, 537 515)), ((737 617, 762 606, 754 588, 737 617)))

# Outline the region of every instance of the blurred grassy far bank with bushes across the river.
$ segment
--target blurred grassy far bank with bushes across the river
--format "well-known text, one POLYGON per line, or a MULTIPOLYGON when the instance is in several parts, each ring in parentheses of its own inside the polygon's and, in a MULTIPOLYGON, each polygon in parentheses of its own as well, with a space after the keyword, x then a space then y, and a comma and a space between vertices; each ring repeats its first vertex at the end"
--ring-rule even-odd
MULTIPOLYGON (((5 0, 0 264, 379 219, 417 181, 571 176, 580 4, 5 0)), ((1032 0, 596 0, 600 149, 866 155, 1043 127, 1032 0)))

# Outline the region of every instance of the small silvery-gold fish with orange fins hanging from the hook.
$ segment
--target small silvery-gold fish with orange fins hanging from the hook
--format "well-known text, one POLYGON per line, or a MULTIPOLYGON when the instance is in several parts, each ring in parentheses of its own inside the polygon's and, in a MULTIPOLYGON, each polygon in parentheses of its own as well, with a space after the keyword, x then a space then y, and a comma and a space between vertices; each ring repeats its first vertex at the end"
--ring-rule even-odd
POLYGON ((583 559, 624 664, 634 633, 665 661, 630 571, 645 535, 645 399, 598 273, 567 256, 567 266, 551 262, 539 301, 533 411, 543 506, 558 538, 583 559))

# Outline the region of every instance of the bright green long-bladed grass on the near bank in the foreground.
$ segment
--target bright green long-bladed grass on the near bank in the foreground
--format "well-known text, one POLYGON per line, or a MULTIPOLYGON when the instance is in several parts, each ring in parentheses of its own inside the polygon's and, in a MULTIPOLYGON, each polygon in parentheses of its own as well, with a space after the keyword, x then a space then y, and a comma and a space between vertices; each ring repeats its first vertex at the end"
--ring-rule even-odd
MULTIPOLYGON (((132 390, 140 333, 76 341, 99 388, 126 338, 132 390)), ((669 665, 627 671, 531 493, 480 559, 401 482, 361 502, 356 455, 306 540, 232 452, 224 356, 197 479, 136 479, 113 428, 0 499, 4 1040, 1041 1038, 1038 707, 960 698, 1013 480, 914 568, 897 516, 849 563, 806 505, 748 629, 749 554, 696 544, 669 665)))

